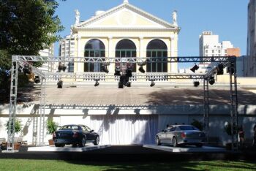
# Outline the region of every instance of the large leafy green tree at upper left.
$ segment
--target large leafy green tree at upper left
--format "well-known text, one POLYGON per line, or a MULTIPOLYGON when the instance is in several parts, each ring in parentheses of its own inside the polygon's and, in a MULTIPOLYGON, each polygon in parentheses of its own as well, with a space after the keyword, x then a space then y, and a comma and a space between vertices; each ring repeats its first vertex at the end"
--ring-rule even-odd
POLYGON ((55 0, 0 0, 1 75, 10 70, 12 55, 38 55, 60 39, 56 34, 64 27, 54 14, 58 6, 55 0))

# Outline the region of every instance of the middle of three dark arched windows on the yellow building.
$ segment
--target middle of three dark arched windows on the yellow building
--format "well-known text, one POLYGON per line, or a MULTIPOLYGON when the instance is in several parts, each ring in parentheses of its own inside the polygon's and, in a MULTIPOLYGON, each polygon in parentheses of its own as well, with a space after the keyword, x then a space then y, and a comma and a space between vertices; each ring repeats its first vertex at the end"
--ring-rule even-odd
MULTIPOLYGON (((116 45, 116 57, 129 58, 136 57, 136 45, 129 39, 122 39, 116 45)), ((132 72, 136 72, 136 64, 131 64, 132 72)))

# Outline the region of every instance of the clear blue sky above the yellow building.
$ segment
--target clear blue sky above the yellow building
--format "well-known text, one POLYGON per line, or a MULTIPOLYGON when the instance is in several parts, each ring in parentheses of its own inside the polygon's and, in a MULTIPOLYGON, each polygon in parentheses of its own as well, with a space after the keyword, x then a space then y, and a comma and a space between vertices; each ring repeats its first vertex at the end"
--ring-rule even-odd
MULTIPOLYGON (((123 0, 67 0, 60 1, 56 15, 69 34, 75 23, 75 9, 80 11, 80 20, 88 20, 97 10, 108 10, 123 0)), ((199 56, 199 35, 202 31, 219 34, 219 41, 229 40, 246 54, 247 5, 249 0, 129 0, 129 3, 172 23, 171 13, 178 11, 178 56, 199 56)), ((58 43, 55 55, 58 56, 58 43)))

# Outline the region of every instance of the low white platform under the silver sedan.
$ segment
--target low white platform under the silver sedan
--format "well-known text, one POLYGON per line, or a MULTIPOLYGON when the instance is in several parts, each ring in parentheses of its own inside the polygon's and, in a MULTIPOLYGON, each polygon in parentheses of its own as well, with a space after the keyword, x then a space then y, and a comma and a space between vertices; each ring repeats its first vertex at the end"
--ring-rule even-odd
POLYGON ((176 147, 173 148, 173 146, 170 145, 143 145, 143 148, 151 148, 154 150, 159 151, 168 151, 173 153, 212 153, 212 152, 227 152, 225 148, 219 148, 219 147, 211 147, 211 146, 203 146, 202 148, 197 148, 192 145, 187 145, 185 147, 176 147))

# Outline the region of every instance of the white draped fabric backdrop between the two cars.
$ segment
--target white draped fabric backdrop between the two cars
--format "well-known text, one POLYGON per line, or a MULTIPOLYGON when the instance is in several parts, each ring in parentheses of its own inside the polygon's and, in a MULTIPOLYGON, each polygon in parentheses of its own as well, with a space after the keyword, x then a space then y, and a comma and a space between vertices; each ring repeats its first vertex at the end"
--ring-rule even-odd
POLYGON ((152 144, 157 134, 157 116, 154 115, 91 115, 61 117, 61 125, 85 124, 99 134, 99 144, 152 144))

